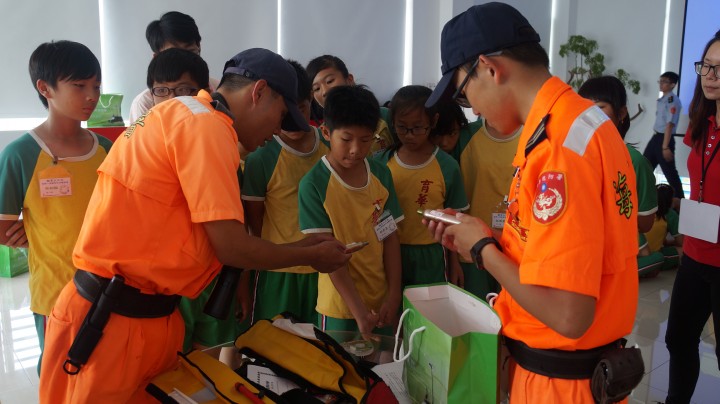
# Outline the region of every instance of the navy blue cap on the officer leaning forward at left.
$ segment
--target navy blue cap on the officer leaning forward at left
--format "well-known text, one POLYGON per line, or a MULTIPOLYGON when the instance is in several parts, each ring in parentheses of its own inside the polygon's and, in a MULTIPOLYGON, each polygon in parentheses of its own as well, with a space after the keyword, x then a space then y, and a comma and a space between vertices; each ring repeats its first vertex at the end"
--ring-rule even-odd
POLYGON ((288 113, 282 121, 282 129, 289 132, 310 130, 297 107, 297 73, 282 56, 263 48, 248 49, 225 63, 225 74, 239 74, 251 80, 267 81, 268 86, 285 99, 288 113))

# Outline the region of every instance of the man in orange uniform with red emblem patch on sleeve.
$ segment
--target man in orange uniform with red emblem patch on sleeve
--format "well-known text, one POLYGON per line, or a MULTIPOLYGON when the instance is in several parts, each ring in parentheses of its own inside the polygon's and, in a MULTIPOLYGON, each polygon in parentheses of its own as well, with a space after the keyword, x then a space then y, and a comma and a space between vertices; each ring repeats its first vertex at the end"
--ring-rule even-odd
POLYGON ((502 238, 469 215, 428 227, 502 285, 494 307, 513 359, 510 402, 592 403, 600 355, 635 319, 635 174, 612 122, 551 76, 539 41, 506 4, 445 25, 443 78, 428 104, 452 96, 501 132, 524 129, 502 238))

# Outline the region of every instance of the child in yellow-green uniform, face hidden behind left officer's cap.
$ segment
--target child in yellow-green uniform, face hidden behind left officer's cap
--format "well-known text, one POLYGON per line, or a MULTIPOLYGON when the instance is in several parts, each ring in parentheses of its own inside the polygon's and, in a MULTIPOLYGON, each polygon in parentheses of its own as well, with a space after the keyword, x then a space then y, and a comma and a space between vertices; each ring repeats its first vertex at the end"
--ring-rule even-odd
MULTIPOLYGON (((305 68, 289 61, 298 75, 298 108, 310 119, 310 79, 305 68)), ((298 225, 300 179, 328 152, 320 130, 287 132, 247 156, 242 185, 246 219, 253 234, 274 243, 292 243, 305 238, 298 225)), ((271 319, 289 311, 305 323, 316 323, 317 271, 291 267, 258 271, 252 322, 271 319)))

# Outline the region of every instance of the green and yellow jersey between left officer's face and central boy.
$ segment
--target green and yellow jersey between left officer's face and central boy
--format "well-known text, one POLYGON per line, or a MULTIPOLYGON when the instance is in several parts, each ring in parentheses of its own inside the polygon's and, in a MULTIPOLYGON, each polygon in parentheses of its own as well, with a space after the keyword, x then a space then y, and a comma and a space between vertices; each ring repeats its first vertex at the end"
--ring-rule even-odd
MULTIPOLYGON (((315 147, 301 153, 278 136, 250 153, 245 160, 242 199, 265 203, 262 238, 273 243, 292 243, 303 239, 298 224, 298 184, 302 177, 328 152, 315 128, 315 147)), ((298 266, 279 272, 311 273, 314 269, 298 266)))

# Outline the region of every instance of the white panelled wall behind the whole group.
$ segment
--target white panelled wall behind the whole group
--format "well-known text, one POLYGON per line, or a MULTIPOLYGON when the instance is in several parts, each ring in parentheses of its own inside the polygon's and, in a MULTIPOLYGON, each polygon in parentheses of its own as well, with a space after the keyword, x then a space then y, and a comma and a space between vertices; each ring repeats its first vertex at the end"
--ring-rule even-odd
MULTIPOLYGON (((432 85, 440 78, 443 25, 473 4, 486 1, 412 1, 412 83, 432 85)), ((565 78, 567 70, 567 61, 557 54, 559 45, 569 35, 582 34, 598 41, 608 73, 622 67, 640 80, 642 91, 630 95, 630 109, 634 113, 640 103, 646 112, 632 122, 628 140, 639 143, 642 150, 652 131, 658 76, 679 66, 684 0, 506 2, 526 15, 540 33, 554 74, 565 78), (671 13, 663 65, 668 5, 671 13)), ((0 0, 0 45, 6 55, 0 64, 0 121, 45 116, 27 75, 27 60, 39 43, 51 39, 76 40, 95 52, 103 65, 103 91, 125 95, 123 114, 127 117, 132 98, 145 88, 152 56, 145 28, 170 10, 195 18, 203 37, 202 56, 213 77, 219 77, 225 61, 243 49, 277 51, 280 21, 283 56, 307 64, 323 53, 335 54, 345 60, 357 81, 369 85, 383 102, 403 85, 405 7, 406 0, 0 0)), ((678 132, 683 132, 685 125, 684 117, 678 132)), ((0 147, 14 136, 0 132, 0 147)), ((686 155, 679 149, 677 165, 684 173, 686 155)))

